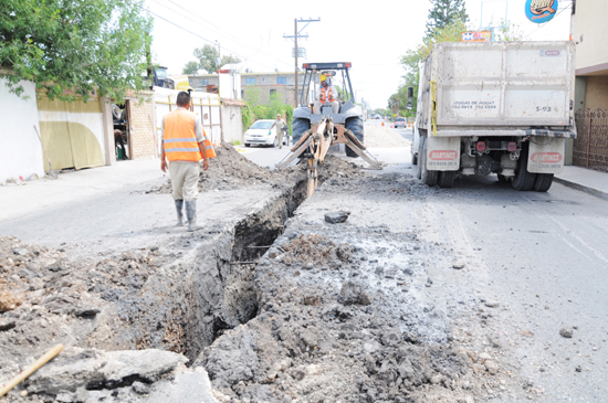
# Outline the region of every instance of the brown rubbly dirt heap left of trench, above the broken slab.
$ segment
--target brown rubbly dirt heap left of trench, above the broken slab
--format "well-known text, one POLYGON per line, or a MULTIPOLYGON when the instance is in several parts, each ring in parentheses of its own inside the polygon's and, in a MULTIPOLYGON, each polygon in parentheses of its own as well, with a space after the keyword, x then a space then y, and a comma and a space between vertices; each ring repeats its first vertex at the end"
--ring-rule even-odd
POLYGON ((71 253, 0 236, 0 380, 56 343, 181 352, 180 340, 149 341, 144 327, 135 340, 124 331, 146 310, 138 294, 148 276, 167 262, 157 247, 77 261, 71 253))

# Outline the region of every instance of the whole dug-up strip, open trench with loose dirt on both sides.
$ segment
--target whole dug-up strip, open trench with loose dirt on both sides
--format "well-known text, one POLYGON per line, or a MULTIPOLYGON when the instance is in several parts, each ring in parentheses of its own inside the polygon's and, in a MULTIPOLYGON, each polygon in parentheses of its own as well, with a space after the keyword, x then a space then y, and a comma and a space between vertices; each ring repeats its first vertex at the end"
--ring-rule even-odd
POLYGON ((69 346, 9 401, 473 402, 499 390, 496 351, 463 342, 485 340, 482 301, 429 298, 452 252, 400 219, 444 193, 402 172, 326 168, 311 199, 296 176, 223 229, 82 271, 4 238, 3 257, 22 264, 3 279, 28 262, 46 276, 2 315, 0 375, 69 346), (324 220, 340 210, 345 223, 324 220))

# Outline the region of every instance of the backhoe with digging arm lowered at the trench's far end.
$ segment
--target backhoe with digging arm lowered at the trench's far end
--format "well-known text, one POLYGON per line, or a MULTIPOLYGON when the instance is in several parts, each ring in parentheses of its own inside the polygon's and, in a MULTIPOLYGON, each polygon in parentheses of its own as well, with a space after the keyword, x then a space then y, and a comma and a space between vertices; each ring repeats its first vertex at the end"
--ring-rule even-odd
POLYGON ((292 138, 294 146, 290 152, 276 163, 276 168, 289 166, 296 158, 307 160, 308 197, 317 184, 317 168, 323 163, 329 147, 345 145, 348 157, 360 157, 373 168, 380 168, 380 162, 364 146, 364 113, 363 108, 355 104, 350 75, 352 64, 344 63, 305 63, 304 81, 300 106, 293 112, 292 138), (321 76, 325 76, 328 84, 339 81, 344 88, 339 94, 339 107, 337 114, 332 106, 321 105, 321 110, 315 110, 313 100, 316 86, 321 76), (342 81, 340 81, 342 78, 342 81))

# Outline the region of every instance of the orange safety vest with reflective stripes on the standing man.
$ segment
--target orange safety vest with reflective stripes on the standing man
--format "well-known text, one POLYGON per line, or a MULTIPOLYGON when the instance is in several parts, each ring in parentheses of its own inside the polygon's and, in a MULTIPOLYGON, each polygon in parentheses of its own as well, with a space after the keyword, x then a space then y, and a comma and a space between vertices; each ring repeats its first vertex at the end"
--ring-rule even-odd
POLYGON ((198 162, 202 159, 195 132, 196 117, 193 113, 182 109, 165 115, 163 147, 169 161, 198 162))

